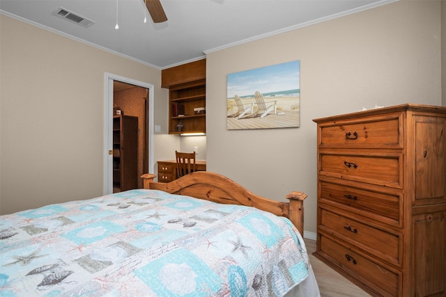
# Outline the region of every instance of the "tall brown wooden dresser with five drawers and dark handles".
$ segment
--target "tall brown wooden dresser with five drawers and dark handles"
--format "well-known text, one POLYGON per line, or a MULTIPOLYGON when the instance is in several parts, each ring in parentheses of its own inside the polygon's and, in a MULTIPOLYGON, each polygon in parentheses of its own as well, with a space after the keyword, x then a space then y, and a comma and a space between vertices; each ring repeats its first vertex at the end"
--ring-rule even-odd
POLYGON ((314 122, 314 255, 372 296, 446 296, 446 107, 314 122))

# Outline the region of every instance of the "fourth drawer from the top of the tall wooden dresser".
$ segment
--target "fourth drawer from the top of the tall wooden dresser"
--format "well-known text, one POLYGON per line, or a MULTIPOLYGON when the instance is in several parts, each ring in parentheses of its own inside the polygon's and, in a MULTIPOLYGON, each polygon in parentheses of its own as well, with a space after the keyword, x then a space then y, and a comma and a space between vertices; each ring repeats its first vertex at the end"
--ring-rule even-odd
POLYGON ((344 241, 349 241, 361 250, 368 250, 386 262, 401 266, 400 252, 402 237, 399 234, 385 232, 376 227, 335 214, 328 209, 320 208, 319 228, 334 234, 344 241))

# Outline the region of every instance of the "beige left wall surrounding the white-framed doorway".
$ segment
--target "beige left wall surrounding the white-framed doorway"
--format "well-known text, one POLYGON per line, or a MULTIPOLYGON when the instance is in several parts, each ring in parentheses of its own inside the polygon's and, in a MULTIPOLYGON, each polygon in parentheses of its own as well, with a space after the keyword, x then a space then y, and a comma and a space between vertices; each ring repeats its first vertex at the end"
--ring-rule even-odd
POLYGON ((152 83, 167 131, 159 69, 5 15, 0 36, 2 214, 102 195, 105 72, 152 83))

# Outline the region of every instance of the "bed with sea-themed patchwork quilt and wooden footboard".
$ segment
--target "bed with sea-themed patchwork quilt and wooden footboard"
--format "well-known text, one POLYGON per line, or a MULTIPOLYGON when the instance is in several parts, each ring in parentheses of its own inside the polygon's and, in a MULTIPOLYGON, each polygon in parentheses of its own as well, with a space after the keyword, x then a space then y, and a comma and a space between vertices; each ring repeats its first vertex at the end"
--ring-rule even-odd
POLYGON ((0 216, 0 296, 319 296, 305 193, 285 203, 213 172, 154 177, 0 216))

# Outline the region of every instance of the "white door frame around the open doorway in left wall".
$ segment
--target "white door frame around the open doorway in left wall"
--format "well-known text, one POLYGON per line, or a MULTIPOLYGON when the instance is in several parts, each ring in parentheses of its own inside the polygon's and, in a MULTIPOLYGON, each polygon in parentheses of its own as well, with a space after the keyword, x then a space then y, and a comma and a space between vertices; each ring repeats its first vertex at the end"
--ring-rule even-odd
POLYGON ((113 193, 113 81, 122 81, 134 86, 148 89, 148 170, 153 172, 153 84, 136 81, 127 77, 105 72, 104 75, 104 172, 103 190, 104 195, 113 193))

